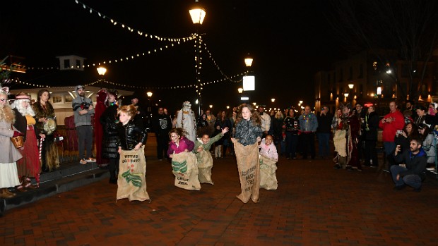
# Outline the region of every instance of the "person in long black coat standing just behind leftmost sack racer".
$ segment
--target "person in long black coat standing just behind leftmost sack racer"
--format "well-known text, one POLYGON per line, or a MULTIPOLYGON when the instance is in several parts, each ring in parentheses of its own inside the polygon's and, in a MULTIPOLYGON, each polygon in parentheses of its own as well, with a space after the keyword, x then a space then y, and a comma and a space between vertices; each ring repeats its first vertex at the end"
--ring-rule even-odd
POLYGON ((107 109, 100 116, 100 125, 103 129, 102 159, 108 159, 109 183, 117 184, 119 173, 119 153, 117 146, 117 92, 108 91, 107 109))

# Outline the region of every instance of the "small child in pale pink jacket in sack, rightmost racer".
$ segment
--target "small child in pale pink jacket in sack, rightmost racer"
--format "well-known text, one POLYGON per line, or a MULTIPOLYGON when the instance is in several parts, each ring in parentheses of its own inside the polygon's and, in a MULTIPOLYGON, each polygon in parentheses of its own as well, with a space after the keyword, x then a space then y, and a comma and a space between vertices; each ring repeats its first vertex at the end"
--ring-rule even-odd
POLYGON ((261 140, 260 149, 260 187, 266 190, 277 190, 278 182, 276 176, 278 152, 273 144, 273 137, 266 135, 261 140))

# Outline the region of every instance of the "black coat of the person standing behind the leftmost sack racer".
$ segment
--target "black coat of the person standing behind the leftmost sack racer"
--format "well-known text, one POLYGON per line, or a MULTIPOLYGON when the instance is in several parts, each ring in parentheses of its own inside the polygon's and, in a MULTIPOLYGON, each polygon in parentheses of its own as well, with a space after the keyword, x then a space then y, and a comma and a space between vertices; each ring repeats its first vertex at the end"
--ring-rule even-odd
POLYGON ((103 129, 102 158, 117 158, 117 105, 107 107, 100 116, 100 124, 103 129))

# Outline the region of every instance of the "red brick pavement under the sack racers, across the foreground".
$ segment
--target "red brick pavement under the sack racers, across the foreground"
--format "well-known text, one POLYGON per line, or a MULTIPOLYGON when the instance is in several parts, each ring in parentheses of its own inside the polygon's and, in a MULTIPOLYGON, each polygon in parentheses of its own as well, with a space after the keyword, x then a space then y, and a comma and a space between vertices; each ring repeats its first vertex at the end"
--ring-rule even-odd
POLYGON ((278 190, 243 204, 235 159, 214 160, 215 185, 174 187, 170 163, 153 158, 152 201, 116 202, 102 180, 7 211, 0 245, 438 245, 438 185, 393 190, 389 176, 332 168, 327 160, 278 163, 278 190))

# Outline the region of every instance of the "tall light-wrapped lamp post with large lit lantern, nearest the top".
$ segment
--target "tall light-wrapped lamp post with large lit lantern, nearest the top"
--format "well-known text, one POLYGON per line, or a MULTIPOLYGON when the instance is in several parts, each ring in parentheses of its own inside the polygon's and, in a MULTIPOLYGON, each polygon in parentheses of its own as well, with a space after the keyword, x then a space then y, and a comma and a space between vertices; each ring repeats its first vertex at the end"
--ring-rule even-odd
MULTIPOLYGON (((196 0, 196 2, 198 2, 196 0)), ((189 10, 191 21, 196 25, 196 39, 195 39, 195 68, 196 68, 196 97, 198 97, 198 115, 201 114, 202 100, 201 100, 201 37, 199 36, 197 27, 202 25, 203 19, 206 17, 206 11, 203 8, 192 8, 189 10)))

